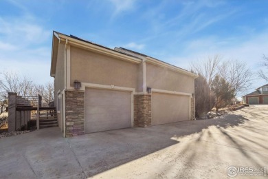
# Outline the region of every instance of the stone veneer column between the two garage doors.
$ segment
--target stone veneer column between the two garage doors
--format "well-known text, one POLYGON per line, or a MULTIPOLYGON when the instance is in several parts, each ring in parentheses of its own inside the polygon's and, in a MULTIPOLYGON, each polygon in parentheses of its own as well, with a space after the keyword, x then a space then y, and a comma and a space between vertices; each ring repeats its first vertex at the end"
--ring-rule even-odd
POLYGON ((134 95, 134 127, 148 127, 152 121, 151 94, 134 95))

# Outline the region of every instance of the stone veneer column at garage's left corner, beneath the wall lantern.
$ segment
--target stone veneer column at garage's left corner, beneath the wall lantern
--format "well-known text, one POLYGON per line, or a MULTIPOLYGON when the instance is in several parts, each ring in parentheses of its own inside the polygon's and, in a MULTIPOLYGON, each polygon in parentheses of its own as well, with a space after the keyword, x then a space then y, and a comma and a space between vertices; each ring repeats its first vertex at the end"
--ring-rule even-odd
POLYGON ((85 92, 65 92, 65 135, 85 134, 85 92))

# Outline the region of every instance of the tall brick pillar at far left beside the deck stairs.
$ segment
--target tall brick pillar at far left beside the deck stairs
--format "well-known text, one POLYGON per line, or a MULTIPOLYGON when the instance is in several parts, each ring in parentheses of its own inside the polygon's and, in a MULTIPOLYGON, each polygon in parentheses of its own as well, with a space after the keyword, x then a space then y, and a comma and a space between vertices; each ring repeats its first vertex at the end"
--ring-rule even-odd
POLYGON ((16 93, 8 93, 8 131, 16 130, 16 93))

